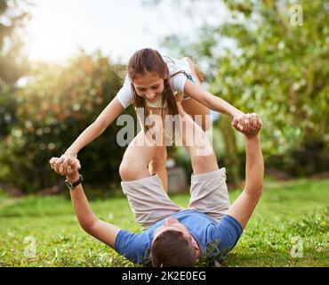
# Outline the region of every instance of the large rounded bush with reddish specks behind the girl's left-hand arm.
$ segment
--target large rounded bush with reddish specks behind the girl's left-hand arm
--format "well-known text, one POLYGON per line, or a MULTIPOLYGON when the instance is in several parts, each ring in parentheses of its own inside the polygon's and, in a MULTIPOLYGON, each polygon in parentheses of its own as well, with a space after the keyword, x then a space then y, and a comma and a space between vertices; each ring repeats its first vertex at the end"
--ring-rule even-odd
MULTIPOLYGON (((0 158, 10 169, 4 182, 22 191, 37 191, 60 180, 49 167, 49 159, 66 151, 114 98, 123 84, 117 72, 121 69, 100 52, 81 52, 66 66, 38 66, 28 85, 16 94, 17 122, 5 137, 6 151, 0 158)), ((124 153, 116 144, 119 128, 112 123, 79 153, 88 183, 118 181, 124 153)))

